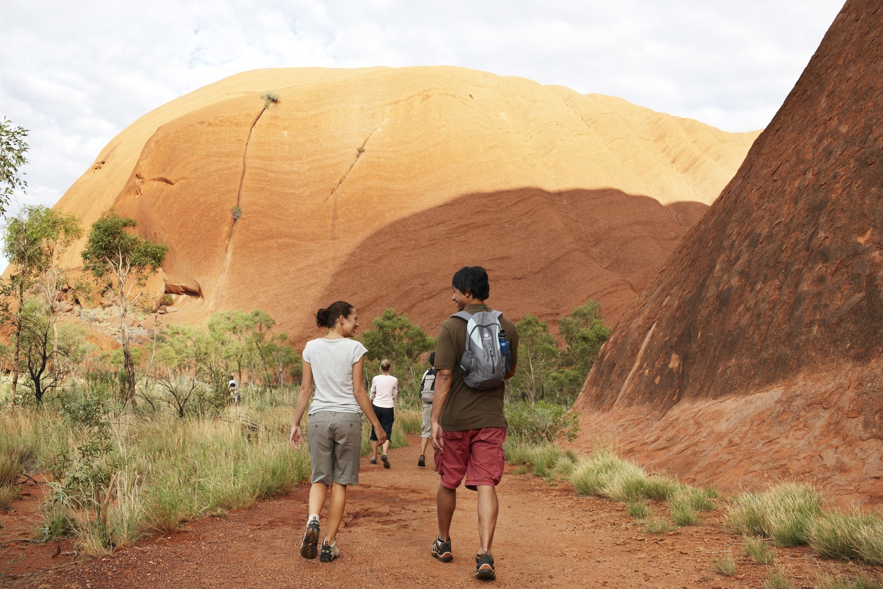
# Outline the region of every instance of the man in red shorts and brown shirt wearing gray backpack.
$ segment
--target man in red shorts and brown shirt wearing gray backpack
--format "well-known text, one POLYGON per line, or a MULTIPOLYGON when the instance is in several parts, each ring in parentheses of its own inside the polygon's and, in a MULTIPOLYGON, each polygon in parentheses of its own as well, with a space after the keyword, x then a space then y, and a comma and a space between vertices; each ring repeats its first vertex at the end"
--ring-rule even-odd
POLYGON ((434 402, 431 418, 435 465, 442 477, 435 497, 439 533, 431 554, 453 560, 450 522, 457 487, 479 494, 479 540, 475 578, 496 578, 491 547, 502 479, 502 442, 506 439, 503 393, 515 374, 518 332, 515 324, 485 305, 490 288, 480 266, 457 270, 451 281, 457 313, 442 323, 435 345, 434 402))

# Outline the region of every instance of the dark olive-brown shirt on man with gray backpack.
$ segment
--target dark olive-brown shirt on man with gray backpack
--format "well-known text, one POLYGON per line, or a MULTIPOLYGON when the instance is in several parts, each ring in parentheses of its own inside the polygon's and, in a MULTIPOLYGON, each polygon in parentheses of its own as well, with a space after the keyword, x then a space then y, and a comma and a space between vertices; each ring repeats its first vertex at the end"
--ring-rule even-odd
MULTIPOLYGON (((467 305, 464 311, 478 313, 490 311, 487 305, 467 305)), ((518 330, 515 323, 500 316, 500 325, 506 330, 509 340, 509 360, 514 366, 518 359, 518 330)), ((450 391, 442 407, 439 424, 446 432, 462 432, 481 427, 506 427, 506 417, 502 412, 502 398, 506 391, 505 383, 487 390, 472 389, 466 386, 460 374, 460 358, 466 350, 466 321, 459 317, 449 317, 439 329, 435 344, 435 368, 450 370, 450 391)))

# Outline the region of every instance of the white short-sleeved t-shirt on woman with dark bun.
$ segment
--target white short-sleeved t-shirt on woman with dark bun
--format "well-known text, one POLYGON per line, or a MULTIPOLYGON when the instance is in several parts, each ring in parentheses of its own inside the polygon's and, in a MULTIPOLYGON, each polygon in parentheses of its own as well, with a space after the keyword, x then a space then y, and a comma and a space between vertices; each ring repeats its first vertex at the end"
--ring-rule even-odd
POLYGON ((348 337, 310 340, 304 348, 304 361, 313 369, 313 403, 309 414, 332 411, 361 413, 352 392, 352 365, 367 353, 361 342, 348 337))

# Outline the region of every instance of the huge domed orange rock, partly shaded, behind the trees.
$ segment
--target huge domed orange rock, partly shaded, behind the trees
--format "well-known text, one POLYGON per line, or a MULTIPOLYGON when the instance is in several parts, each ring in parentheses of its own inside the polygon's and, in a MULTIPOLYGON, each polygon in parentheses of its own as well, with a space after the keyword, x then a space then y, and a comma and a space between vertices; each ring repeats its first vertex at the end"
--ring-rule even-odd
POLYGON ((462 68, 259 70, 141 117, 57 207, 169 245, 170 321, 260 308, 302 344, 343 298, 434 331, 483 264, 514 319, 612 323, 756 137, 462 68))

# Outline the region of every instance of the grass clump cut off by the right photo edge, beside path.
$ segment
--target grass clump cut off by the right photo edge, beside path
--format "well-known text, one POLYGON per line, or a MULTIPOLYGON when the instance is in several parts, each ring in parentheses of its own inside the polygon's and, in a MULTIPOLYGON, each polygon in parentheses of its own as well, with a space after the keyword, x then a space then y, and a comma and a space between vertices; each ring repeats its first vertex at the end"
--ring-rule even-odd
POLYGON ((883 518, 830 511, 812 521, 809 542, 822 556, 883 564, 883 518))

